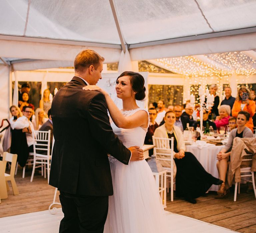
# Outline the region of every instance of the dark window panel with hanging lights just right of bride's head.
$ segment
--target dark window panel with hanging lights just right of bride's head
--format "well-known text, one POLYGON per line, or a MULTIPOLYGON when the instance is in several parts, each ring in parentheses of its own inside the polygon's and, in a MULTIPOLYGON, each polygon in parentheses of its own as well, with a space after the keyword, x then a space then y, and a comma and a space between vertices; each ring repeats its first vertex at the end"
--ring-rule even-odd
POLYGON ((164 100, 166 108, 168 105, 182 105, 183 86, 148 85, 148 103, 159 100, 164 100))

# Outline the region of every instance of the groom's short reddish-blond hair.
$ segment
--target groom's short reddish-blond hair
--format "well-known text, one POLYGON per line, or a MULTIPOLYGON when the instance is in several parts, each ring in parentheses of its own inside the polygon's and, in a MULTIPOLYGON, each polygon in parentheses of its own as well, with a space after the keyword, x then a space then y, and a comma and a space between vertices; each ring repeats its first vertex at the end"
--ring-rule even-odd
POLYGON ((97 70, 100 62, 104 62, 104 60, 105 59, 95 51, 91 49, 86 49, 76 55, 74 61, 74 68, 75 71, 81 71, 88 68, 90 65, 93 65, 97 70))

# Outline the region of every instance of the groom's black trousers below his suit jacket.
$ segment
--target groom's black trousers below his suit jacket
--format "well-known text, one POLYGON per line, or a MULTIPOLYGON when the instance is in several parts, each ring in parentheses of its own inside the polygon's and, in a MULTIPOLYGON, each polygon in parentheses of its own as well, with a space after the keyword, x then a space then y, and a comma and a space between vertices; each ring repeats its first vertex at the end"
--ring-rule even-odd
POLYGON ((108 196, 85 196, 60 191, 64 218, 59 233, 103 233, 108 196))

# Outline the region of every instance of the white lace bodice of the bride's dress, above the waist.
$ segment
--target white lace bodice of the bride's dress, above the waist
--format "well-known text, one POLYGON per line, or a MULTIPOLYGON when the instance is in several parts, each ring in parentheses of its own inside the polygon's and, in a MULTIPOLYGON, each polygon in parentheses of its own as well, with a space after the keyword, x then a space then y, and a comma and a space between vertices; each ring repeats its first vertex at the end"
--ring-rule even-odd
MULTIPOLYGON (((140 110, 146 111, 142 108, 138 108, 130 111, 121 111, 121 112, 123 116, 131 116, 140 110)), ((149 118, 149 115, 148 115, 148 118, 149 118)), ((149 119, 148 119, 148 126, 149 126, 149 119)), ((119 137, 119 139, 123 142, 123 144, 127 148, 131 146, 139 146, 140 148, 142 148, 148 127, 142 128, 139 126, 136 128, 128 128, 128 129, 118 128, 112 120, 111 120, 111 127, 114 133, 119 137)))

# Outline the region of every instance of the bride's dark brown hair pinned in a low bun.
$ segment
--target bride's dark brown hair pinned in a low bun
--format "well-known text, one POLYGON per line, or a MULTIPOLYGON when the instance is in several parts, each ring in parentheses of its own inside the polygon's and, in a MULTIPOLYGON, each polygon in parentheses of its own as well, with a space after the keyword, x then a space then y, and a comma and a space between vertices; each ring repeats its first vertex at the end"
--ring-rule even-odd
MULTIPOLYGON (((145 80, 144 80, 143 76, 136 72, 125 71, 121 75, 118 76, 117 80, 123 76, 130 77, 132 92, 136 92, 135 100, 144 100, 144 98, 146 97, 146 94, 145 94, 146 88, 144 87, 145 80)), ((131 94, 133 95, 133 93, 131 93, 131 94)))

